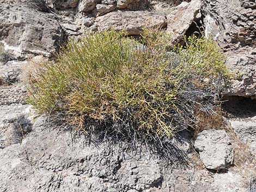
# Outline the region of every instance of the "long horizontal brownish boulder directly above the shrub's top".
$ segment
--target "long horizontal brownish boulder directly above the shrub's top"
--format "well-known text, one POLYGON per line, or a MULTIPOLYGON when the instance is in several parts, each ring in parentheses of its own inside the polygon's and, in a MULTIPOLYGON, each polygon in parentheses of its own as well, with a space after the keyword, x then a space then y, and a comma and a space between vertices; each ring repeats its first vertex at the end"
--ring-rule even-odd
POLYGON ((117 11, 96 18, 100 30, 125 29, 128 35, 139 35, 143 27, 166 27, 164 16, 153 11, 117 11))

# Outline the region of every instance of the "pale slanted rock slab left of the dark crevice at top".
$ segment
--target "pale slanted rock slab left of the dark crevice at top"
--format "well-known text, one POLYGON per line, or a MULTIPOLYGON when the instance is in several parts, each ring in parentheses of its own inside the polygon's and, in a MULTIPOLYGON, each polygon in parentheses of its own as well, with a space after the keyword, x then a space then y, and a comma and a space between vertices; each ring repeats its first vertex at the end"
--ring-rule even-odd
POLYGON ((201 8, 200 0, 192 0, 190 3, 182 2, 177 7, 169 10, 167 15, 167 32, 172 34, 172 42, 178 43, 196 19, 201 8))

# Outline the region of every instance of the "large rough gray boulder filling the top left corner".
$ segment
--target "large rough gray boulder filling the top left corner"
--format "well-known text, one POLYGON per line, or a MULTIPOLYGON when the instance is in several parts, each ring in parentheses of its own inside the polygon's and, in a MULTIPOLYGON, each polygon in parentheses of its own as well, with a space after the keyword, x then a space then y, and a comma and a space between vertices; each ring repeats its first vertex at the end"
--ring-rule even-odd
POLYGON ((0 4, 0 41, 6 51, 17 58, 56 54, 63 41, 63 30, 54 14, 37 11, 26 1, 1 0, 0 4))

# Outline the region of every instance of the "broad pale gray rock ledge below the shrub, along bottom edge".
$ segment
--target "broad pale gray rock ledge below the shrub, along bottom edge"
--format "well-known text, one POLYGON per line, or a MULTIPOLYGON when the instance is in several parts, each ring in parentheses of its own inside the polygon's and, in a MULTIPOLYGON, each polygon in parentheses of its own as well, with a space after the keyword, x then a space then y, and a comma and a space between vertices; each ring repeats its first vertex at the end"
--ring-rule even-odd
POLYGON ((86 145, 82 135, 48 126, 42 117, 22 143, 0 149, 0 160, 0 189, 10 192, 244 189, 238 176, 211 183, 208 172, 175 169, 149 153, 125 153, 115 145, 86 145))

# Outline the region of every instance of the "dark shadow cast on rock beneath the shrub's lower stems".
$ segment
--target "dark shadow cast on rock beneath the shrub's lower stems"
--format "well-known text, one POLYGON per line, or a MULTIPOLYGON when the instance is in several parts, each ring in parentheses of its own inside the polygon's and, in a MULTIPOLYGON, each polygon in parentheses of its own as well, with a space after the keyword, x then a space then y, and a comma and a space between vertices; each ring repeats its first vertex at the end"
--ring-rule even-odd
POLYGON ((187 166, 190 162, 187 155, 191 150, 192 137, 186 129, 167 138, 144 129, 137 129, 136 126, 124 121, 103 123, 86 119, 82 131, 60 119, 62 118, 51 119, 49 123, 56 128, 65 127, 66 131, 70 131, 72 142, 84 138, 85 145, 94 145, 100 150, 103 147, 103 151, 107 153, 115 153, 118 149, 118 153, 123 155, 122 159, 126 154, 129 158, 159 159, 164 164, 174 166, 187 166))

